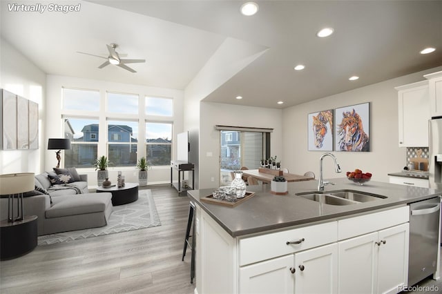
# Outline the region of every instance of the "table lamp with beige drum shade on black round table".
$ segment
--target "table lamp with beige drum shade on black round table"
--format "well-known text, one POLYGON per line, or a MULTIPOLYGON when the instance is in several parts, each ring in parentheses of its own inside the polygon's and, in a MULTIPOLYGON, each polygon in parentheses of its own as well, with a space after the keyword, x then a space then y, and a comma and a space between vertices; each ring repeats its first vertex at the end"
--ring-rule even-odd
POLYGON ((34 173, 0 175, 0 195, 8 195, 8 222, 23 220, 23 193, 34 188, 34 173), (14 199, 17 199, 17 217, 14 216, 14 199))

